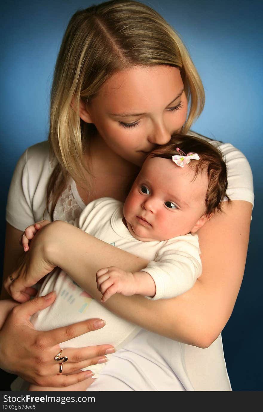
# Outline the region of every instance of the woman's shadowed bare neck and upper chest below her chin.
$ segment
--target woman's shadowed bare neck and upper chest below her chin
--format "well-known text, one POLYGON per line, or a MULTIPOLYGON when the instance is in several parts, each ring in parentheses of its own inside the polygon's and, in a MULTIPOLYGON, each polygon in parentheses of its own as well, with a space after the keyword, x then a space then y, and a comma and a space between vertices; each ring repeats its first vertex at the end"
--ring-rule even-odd
POLYGON ((77 185, 84 203, 87 204, 99 197, 113 197, 124 201, 129 185, 139 172, 139 167, 113 152, 100 136, 94 136, 85 153, 85 161, 92 173, 92 176, 87 175, 91 185, 90 193, 77 185))

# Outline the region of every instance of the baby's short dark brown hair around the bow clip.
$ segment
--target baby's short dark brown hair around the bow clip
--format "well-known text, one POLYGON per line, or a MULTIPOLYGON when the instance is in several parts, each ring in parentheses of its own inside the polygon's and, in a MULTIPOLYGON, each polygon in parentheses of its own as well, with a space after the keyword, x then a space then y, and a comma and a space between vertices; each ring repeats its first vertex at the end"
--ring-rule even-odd
POLYGON ((230 199, 226 194, 228 188, 227 170, 221 151, 206 140, 176 133, 171 136, 171 140, 167 144, 158 146, 150 156, 171 159, 174 155, 182 154, 176 150, 176 147, 186 154, 192 152, 199 155, 200 160, 190 160, 188 164, 195 170, 194 179, 198 173, 207 173, 208 188, 205 197, 205 214, 210 217, 215 211, 222 212, 223 199, 226 197, 228 202, 230 199))

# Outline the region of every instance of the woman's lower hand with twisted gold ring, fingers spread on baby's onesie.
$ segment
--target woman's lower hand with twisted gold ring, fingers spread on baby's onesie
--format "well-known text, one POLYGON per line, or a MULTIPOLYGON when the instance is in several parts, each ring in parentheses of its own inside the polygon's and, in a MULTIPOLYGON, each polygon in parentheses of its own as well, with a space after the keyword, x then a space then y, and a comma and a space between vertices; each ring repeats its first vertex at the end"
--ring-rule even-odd
POLYGON ((35 330, 29 320, 30 316, 51 305, 55 298, 56 294, 51 293, 12 309, 0 331, 0 367, 40 386, 62 387, 82 382, 92 376, 89 371, 73 375, 65 375, 66 373, 95 365, 99 359, 103 363, 107 360, 105 353, 113 353, 115 350, 111 345, 64 349, 63 356, 67 356, 68 361, 63 363, 63 374, 58 375, 59 362, 55 361, 54 357, 61 350, 59 342, 100 329, 105 323, 101 319, 89 319, 46 332, 35 330), (23 342, 23 345, 18 345, 17 342, 23 342))

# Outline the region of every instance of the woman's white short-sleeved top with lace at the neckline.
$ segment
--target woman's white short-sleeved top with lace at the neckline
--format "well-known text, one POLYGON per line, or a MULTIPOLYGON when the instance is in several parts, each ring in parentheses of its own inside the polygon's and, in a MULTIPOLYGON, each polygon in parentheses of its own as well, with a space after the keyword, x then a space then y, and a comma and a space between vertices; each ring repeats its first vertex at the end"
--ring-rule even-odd
MULTIPOLYGON (((247 159, 230 143, 205 140, 223 152, 230 199, 253 204, 253 178, 247 159)), ((10 225, 24 230, 41 220, 43 214, 50 220, 45 211, 46 190, 53 167, 47 142, 28 148, 21 156, 7 201, 6 219, 10 225)), ((72 182, 59 199, 54 219, 74 221, 84 207, 72 182)), ((180 390, 231 391, 221 335, 209 348, 200 349, 141 330, 129 344, 113 354, 98 382, 90 388, 90 391, 180 390)))

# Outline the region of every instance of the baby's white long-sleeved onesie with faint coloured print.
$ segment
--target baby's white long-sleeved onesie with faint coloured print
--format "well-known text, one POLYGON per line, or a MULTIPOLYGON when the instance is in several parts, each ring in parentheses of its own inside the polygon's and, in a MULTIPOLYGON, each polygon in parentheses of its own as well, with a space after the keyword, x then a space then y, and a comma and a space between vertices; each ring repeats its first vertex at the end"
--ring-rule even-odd
MULTIPOLYGON (((190 289, 202 272, 198 236, 187 234, 166 241, 139 241, 122 222, 122 208, 123 203, 115 199, 97 199, 86 206, 74 225, 117 248, 150 260, 143 271, 155 281, 156 294, 152 299, 174 297, 190 289)), ((120 349, 140 330, 139 326, 124 321, 96 302, 61 269, 55 269, 47 277, 39 295, 47 295, 52 290, 56 290, 57 295, 54 304, 31 317, 35 329, 50 330, 89 318, 106 321, 104 328, 63 342, 61 348, 107 342, 120 349)), ((86 369, 96 372, 94 377, 97 377, 104 367, 100 364, 86 369)))

